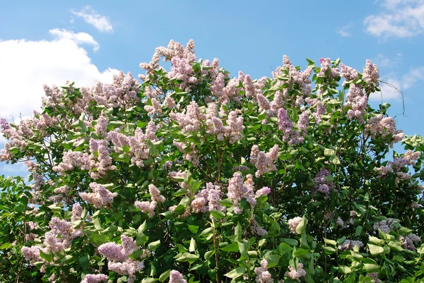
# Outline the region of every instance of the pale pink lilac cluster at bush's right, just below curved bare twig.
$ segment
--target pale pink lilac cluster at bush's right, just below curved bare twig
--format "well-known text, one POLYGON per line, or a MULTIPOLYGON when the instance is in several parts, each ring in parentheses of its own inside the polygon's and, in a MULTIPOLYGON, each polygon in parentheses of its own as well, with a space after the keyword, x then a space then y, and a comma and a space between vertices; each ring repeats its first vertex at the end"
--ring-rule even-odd
POLYGON ((396 121, 392 117, 384 117, 382 114, 372 117, 365 128, 365 133, 371 138, 381 136, 384 139, 390 135, 390 147, 393 147, 394 143, 399 142, 405 136, 401 130, 396 130, 396 121))

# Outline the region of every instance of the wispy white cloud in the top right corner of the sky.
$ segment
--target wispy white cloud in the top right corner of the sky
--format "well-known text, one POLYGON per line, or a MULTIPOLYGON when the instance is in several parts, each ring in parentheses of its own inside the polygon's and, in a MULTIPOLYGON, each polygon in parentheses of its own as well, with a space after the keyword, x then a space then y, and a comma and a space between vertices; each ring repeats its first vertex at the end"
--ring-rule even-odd
POLYGON ((412 37, 424 31, 424 0, 382 0, 381 11, 367 16, 365 31, 377 37, 412 37))

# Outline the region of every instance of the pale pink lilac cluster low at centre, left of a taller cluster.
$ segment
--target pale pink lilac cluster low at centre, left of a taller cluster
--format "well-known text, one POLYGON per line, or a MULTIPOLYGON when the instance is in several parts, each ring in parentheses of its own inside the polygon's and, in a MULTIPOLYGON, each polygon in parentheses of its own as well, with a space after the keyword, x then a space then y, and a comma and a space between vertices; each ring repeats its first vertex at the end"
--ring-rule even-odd
POLYGON ((212 210, 220 210, 225 212, 225 207, 219 203, 223 192, 220 186, 207 183, 206 189, 199 191, 192 201, 192 212, 207 212, 212 210))

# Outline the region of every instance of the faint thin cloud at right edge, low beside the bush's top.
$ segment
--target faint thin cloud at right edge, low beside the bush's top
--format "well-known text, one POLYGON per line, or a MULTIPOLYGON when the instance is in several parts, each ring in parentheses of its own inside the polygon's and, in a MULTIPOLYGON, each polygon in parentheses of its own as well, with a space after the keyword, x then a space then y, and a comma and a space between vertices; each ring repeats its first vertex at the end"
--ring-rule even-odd
POLYGON ((401 91, 414 88, 424 80, 424 66, 411 68, 403 76, 397 76, 396 73, 390 73, 388 76, 381 77, 386 82, 381 84, 382 92, 375 92, 370 95, 371 100, 399 100, 401 91))

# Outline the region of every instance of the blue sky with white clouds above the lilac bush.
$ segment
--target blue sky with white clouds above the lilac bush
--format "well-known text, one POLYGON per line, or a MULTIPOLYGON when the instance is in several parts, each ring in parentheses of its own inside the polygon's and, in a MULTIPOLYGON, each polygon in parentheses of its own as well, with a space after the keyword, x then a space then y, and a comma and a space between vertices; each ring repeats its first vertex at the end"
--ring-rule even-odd
MULTIPOLYGON (((283 54, 302 67, 305 57, 340 57, 362 70, 371 59, 406 94, 404 117, 400 95, 382 89, 398 128, 424 133, 424 0, 1 1, 0 26, 0 116, 9 121, 39 107, 43 84, 136 76, 155 47, 193 39, 198 58, 216 57, 234 76, 270 76, 283 54)), ((0 164, 0 174, 16 169, 0 164)))

